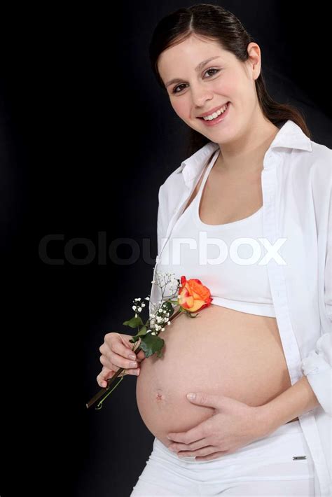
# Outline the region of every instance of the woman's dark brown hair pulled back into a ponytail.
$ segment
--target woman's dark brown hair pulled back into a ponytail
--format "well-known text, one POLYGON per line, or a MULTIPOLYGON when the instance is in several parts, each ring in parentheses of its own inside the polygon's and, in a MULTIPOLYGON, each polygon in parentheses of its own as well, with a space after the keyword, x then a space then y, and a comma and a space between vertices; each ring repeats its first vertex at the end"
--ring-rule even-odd
MULTIPOLYGON (((240 62, 245 62, 249 58, 247 47, 251 41, 254 41, 240 20, 221 6, 199 3, 188 8, 179 8, 179 10, 170 13, 158 22, 149 45, 153 73, 165 92, 167 92, 166 87, 158 72, 158 57, 161 52, 181 43, 191 34, 218 41, 221 48, 232 52, 240 62)), ((260 75, 255 80, 255 85, 258 103, 264 116, 271 123, 280 127, 286 120, 293 120, 311 139, 310 130, 300 111, 290 104, 280 104, 270 97, 265 87, 262 68, 260 75)), ((188 154, 192 155, 208 141, 207 137, 190 128, 188 154)))

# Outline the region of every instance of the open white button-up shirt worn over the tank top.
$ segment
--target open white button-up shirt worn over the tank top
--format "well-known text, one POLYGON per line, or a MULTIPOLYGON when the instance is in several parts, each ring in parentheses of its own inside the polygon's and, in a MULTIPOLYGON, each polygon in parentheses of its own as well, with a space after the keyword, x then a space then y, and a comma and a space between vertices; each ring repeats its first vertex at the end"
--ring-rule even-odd
MULTIPOLYGON (((158 255, 219 145, 209 141, 167 177, 158 200, 158 255)), ((332 150, 310 140, 292 120, 263 159, 263 237, 286 243, 268 262, 270 291, 293 385, 303 376, 319 406, 298 416, 314 461, 316 496, 332 496, 332 150)), ((155 268, 153 281, 155 280, 155 268)), ((150 311, 160 300, 151 288, 150 311)))

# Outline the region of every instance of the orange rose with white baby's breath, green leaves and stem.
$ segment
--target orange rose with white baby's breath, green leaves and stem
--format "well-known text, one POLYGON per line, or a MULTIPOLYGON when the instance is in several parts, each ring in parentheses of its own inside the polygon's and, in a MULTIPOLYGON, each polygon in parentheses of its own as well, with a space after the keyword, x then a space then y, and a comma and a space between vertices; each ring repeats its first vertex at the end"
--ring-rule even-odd
MULTIPOLYGON (((134 305, 132 309, 135 314, 129 321, 125 321, 123 324, 130 326, 130 328, 137 328, 136 335, 132 336, 130 342, 134 344, 132 350, 134 352, 139 352, 143 350, 146 358, 156 353, 158 357, 162 357, 162 347, 165 341, 159 337, 160 332, 165 331, 165 325, 170 325, 174 318, 179 316, 179 314, 184 313, 190 318, 196 318, 198 314, 193 314, 196 311, 208 307, 212 302, 211 293, 209 288, 204 286, 199 279, 186 279, 186 276, 181 276, 181 280, 176 279, 174 274, 165 272, 155 272, 156 281, 151 281, 155 283, 161 290, 161 300, 157 304, 151 303, 151 314, 144 324, 141 320, 141 311, 146 306, 145 302, 141 300, 140 297, 133 300, 134 305), (172 290, 171 295, 165 295, 165 288, 170 285, 170 290, 172 290), (175 300, 173 300, 175 299, 175 300), (175 307, 179 307, 176 312, 174 312, 175 307), (138 347, 135 349, 138 343, 138 347)), ((144 300, 149 301, 150 297, 145 297, 144 300)), ((118 386, 120 381, 123 380, 125 375, 125 368, 120 367, 119 370, 113 374, 113 377, 107 380, 107 386, 102 388, 94 397, 92 397, 89 402, 87 402, 86 407, 93 405, 99 398, 106 395, 102 400, 99 401, 96 409, 102 408, 102 402, 109 396, 109 394, 118 386), (113 386, 111 391, 109 388, 113 384, 116 378, 123 373, 122 377, 118 383, 113 386)))

